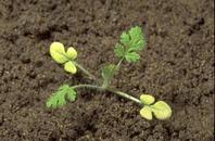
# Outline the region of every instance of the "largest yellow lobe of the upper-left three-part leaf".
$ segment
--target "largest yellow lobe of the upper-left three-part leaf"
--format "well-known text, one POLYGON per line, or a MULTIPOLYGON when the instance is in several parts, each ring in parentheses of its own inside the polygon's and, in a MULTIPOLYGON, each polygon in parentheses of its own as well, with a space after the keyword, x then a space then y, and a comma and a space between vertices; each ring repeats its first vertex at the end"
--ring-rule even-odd
POLYGON ((51 43, 50 54, 52 59, 59 64, 64 64, 68 61, 68 59, 66 57, 64 46, 61 42, 51 43))

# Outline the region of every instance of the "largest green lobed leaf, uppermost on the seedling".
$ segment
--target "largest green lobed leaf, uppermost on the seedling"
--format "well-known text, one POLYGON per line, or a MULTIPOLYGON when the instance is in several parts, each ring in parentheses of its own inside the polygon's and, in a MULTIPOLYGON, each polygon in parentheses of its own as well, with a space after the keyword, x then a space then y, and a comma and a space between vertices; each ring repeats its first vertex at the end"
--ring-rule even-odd
POLYGON ((127 62, 137 62, 140 56, 137 51, 141 51, 146 44, 140 27, 136 26, 121 35, 121 43, 116 43, 114 53, 117 57, 125 57, 127 62))

